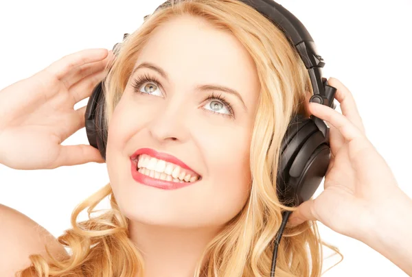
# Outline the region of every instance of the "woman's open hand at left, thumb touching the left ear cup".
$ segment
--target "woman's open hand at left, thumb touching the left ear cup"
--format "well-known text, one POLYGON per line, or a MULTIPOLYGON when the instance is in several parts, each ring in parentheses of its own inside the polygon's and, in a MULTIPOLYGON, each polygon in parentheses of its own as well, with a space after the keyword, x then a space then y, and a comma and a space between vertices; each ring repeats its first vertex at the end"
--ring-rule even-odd
POLYGON ((91 145, 60 145, 84 128, 86 106, 106 76, 113 52, 86 49, 0 91, 0 163, 13 169, 54 169, 104 162, 91 145))

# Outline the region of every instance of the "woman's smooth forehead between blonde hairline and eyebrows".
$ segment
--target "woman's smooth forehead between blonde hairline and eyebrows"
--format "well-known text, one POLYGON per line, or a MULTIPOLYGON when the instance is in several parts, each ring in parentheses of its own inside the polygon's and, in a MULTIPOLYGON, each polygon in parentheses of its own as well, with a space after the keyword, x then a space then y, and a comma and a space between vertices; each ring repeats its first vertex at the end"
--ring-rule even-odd
POLYGON ((238 91, 244 101, 258 91, 254 62, 240 41, 207 21, 180 16, 157 27, 137 59, 152 62, 170 77, 171 86, 220 84, 238 91))

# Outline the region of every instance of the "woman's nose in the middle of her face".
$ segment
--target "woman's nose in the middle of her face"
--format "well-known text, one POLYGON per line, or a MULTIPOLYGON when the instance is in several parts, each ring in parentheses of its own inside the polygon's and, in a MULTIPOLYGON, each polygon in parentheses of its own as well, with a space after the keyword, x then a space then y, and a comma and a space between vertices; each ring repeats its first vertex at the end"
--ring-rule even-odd
POLYGON ((186 141, 189 136, 187 128, 187 110, 183 99, 166 99, 158 112, 154 113, 148 123, 150 136, 160 143, 165 141, 186 141))

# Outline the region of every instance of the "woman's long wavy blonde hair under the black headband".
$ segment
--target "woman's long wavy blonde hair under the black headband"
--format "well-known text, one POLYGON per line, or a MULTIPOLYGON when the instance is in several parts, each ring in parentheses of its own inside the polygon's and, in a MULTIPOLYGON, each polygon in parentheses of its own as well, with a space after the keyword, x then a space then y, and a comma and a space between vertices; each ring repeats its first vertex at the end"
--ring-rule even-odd
MULTIPOLYGON (((104 82, 105 126, 109 125, 139 52, 153 29, 183 15, 200 17, 236 36, 253 58, 261 85, 251 140, 249 200, 209 242, 194 276, 269 276, 273 239, 282 222, 282 211, 295 210, 283 206, 277 198, 279 150, 290 119, 306 112, 304 103, 312 94, 308 71, 281 30, 236 0, 172 1, 170 6, 148 16, 124 40, 110 65, 104 82)), ((73 228, 58 237, 62 245, 71 248, 69 258, 54 258, 46 249, 49 260, 31 255, 32 265, 21 276, 32 276, 30 272, 37 276, 144 276, 144 260, 128 237, 128 218, 120 213, 110 183, 76 206, 71 224, 73 228), (106 196, 110 197, 111 209, 91 216, 106 196), (86 208, 89 219, 76 222, 86 208)), ((276 276, 320 276, 322 245, 340 254, 337 248, 321 241, 316 222, 287 225, 279 244, 276 276)))

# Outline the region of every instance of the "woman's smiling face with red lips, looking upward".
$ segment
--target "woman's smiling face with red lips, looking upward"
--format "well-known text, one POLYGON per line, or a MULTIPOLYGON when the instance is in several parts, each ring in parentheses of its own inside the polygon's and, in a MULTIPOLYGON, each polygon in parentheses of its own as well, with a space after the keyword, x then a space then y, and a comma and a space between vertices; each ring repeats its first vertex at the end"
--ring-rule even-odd
POLYGON ((106 164, 119 208, 146 224, 225 224, 242 210, 251 184, 249 147, 260 91, 251 56, 231 34, 183 16, 155 29, 135 69, 108 129, 106 164), (146 75, 155 79, 135 82, 146 75), (219 95, 224 101, 216 99, 219 95), (142 148, 172 155, 194 172, 176 169, 176 160, 152 159, 150 151, 136 164, 130 157, 142 148), (136 165, 143 168, 132 173, 136 165), (152 174, 183 184, 167 177, 174 170, 177 179, 193 181, 199 175, 200 180, 179 189, 142 181, 153 181, 152 174))

